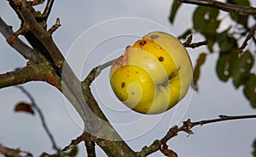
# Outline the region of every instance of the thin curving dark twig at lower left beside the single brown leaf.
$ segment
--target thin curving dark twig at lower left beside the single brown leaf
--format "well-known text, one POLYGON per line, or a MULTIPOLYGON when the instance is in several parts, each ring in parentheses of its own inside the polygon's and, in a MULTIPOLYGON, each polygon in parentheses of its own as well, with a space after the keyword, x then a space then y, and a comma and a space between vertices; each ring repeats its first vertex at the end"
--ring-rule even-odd
POLYGON ((58 149, 57 146, 56 146, 56 144, 55 144, 55 139, 54 139, 54 137, 52 136, 51 132, 49 131, 48 126, 46 125, 43 112, 41 111, 41 109, 40 109, 40 108, 38 107, 38 105, 36 104, 35 99, 32 97, 32 95, 31 95, 30 93, 28 93, 28 92, 26 91, 26 89, 25 89, 24 87, 21 87, 21 86, 15 86, 15 87, 19 88, 19 89, 22 91, 22 93, 25 93, 26 96, 30 99, 30 101, 31 101, 31 103, 32 103, 32 107, 38 111, 38 115, 39 115, 39 117, 40 117, 40 120, 41 120, 41 122, 42 122, 42 125, 43 125, 43 127, 44 127, 44 130, 45 130, 45 132, 47 133, 47 135, 48 135, 48 137, 49 137, 49 140, 50 140, 50 142, 51 142, 52 145, 53 145, 53 148, 54 148, 54 149, 58 149))

